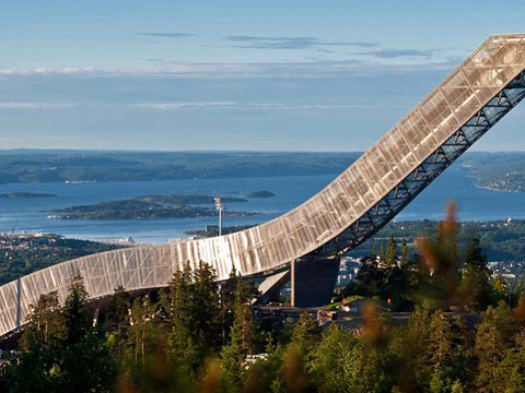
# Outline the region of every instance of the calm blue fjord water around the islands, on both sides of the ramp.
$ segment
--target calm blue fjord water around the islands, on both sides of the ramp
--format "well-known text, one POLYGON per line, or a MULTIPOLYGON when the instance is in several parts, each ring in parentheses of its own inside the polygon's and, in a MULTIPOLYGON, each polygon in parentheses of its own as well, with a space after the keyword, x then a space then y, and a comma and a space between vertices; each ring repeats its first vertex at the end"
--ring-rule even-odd
MULTIPOLYGON (((140 242, 164 242, 187 237, 187 229, 217 224, 213 217, 159 221, 58 221, 43 211, 80 204, 93 204, 144 194, 195 192, 209 195, 241 195, 268 190, 277 196, 230 203, 228 209, 260 212, 250 217, 225 217, 224 225, 258 224, 271 219, 319 191, 336 175, 247 179, 197 179, 107 183, 34 183, 0 186, 0 193, 27 191, 58 194, 57 198, 0 200, 0 231, 46 231, 83 239, 117 239, 131 236, 140 242)), ((525 218, 525 193, 503 193, 474 187, 475 180, 459 166, 446 170, 396 219, 440 219, 447 201, 456 201, 459 219, 487 221, 525 218)))

